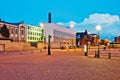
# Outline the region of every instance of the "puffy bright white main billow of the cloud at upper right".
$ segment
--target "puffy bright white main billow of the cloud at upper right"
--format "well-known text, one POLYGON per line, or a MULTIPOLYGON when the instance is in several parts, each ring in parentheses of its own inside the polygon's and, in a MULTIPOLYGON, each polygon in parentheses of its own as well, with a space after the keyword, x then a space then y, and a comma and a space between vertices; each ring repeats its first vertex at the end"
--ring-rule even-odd
POLYGON ((113 24, 119 21, 120 18, 117 15, 95 13, 85 18, 81 24, 113 24))

